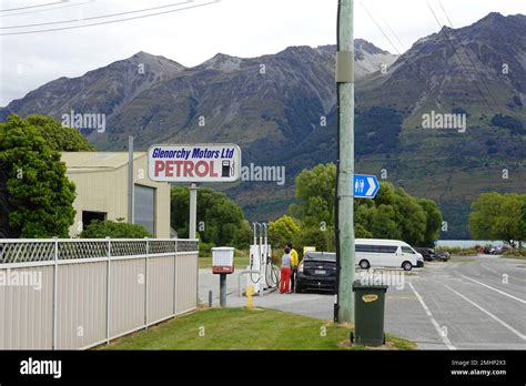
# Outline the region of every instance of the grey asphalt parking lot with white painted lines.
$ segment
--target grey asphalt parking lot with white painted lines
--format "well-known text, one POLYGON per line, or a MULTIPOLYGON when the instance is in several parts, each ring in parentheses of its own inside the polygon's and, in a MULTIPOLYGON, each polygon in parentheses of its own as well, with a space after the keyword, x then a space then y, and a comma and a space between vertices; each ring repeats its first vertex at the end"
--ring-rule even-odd
MULTIPOLYGON (((401 284, 387 291, 386 332, 421 349, 526 349, 526 261, 479 255, 426 262, 404 274, 401 284)), ((218 305, 219 277, 201 270, 200 297, 205 302, 209 291, 218 305)), ((237 295, 237 275, 229 277, 227 293, 227 306, 246 304, 237 295)), ((323 293, 254 297, 255 306, 323 321, 332 319, 333 304, 334 295, 323 293)))

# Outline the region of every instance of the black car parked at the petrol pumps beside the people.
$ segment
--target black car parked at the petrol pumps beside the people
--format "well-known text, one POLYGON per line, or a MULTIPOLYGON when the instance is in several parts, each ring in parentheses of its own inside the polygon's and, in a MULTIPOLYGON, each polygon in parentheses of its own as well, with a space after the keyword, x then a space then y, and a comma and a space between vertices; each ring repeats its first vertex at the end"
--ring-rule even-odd
POLYGON ((326 290, 334 293, 336 283, 336 254, 307 252, 297 267, 295 292, 326 290))

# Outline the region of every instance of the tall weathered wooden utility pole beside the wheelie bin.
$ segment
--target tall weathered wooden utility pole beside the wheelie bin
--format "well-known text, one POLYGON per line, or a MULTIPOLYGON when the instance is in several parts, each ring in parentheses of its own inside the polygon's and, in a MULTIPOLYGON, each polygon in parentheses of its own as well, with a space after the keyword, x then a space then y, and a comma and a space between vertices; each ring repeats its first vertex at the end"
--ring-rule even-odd
POLYGON ((338 0, 336 83, 338 162, 336 182, 337 295, 335 322, 354 323, 354 1, 338 0))

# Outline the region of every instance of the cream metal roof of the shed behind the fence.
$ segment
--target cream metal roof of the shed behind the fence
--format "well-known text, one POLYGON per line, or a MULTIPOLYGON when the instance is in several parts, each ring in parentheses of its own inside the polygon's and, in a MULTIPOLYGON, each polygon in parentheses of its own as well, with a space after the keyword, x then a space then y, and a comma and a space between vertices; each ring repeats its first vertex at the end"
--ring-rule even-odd
MULTIPOLYGON (((146 156, 145 152, 134 152, 133 160, 146 156)), ((63 152, 61 161, 68 172, 112 171, 128 165, 128 152, 63 152)))

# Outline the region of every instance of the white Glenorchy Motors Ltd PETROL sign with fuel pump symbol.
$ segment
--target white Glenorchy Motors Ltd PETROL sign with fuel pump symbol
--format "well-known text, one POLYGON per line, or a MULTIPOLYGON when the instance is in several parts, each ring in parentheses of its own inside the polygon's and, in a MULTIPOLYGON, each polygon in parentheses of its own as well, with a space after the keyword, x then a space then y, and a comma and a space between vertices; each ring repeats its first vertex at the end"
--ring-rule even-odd
POLYGON ((148 173, 159 182, 234 182, 241 176, 235 144, 161 144, 148 150, 148 173))

